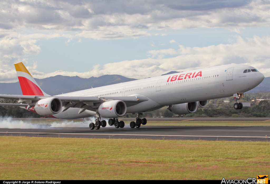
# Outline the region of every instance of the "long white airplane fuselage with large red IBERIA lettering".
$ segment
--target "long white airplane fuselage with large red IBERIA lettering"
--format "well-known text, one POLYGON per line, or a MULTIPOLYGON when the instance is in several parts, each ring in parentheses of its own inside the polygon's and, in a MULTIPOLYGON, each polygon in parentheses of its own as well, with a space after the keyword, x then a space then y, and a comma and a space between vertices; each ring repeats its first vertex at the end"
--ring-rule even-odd
MULTIPOLYGON (((258 71, 243 73, 247 69, 254 69, 254 67, 228 64, 75 91, 59 96, 144 96, 149 100, 127 107, 126 111, 126 113, 142 113, 166 105, 230 97, 235 93, 249 91, 262 82, 264 75, 258 71)), ((69 108, 53 116, 60 119, 76 119, 96 114, 89 110, 81 114, 78 112, 79 108, 69 108)))

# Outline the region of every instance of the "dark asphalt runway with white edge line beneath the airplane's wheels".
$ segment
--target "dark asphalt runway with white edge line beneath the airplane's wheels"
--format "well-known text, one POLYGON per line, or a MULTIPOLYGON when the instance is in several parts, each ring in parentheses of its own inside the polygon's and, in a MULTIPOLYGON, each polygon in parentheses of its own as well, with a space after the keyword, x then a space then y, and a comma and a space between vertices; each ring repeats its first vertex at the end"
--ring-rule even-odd
POLYGON ((181 139, 211 141, 269 141, 270 127, 217 126, 141 126, 141 128, 7 129, 0 128, 0 136, 77 137, 115 139, 181 139))

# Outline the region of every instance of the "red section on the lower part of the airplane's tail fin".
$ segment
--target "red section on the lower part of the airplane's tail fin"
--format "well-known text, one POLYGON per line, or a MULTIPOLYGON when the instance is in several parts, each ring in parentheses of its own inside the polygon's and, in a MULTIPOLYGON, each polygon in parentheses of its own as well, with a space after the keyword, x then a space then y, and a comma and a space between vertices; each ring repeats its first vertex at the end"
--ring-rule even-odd
POLYGON ((18 79, 19 79, 19 82, 21 85, 23 95, 44 96, 41 89, 36 84, 34 84, 32 81, 26 79, 25 77, 18 77, 18 79))

